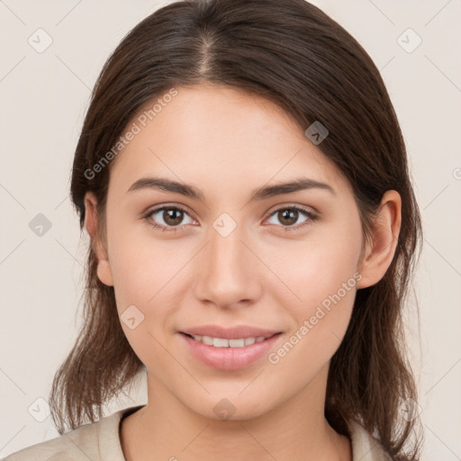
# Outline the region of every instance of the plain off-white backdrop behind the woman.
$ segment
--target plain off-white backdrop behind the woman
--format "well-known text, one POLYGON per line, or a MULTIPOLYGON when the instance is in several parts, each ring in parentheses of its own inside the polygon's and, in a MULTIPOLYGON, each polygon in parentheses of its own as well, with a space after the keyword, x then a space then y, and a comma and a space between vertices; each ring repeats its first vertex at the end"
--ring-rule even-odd
MULTIPOLYGON (((68 198, 77 136, 105 59, 126 32, 167 3, 0 1, 2 457, 58 436, 46 399, 76 338, 87 244, 68 198), (43 225, 42 235, 36 222, 43 225)), ((423 458, 459 460, 461 2, 315 5, 374 59, 402 125, 425 232, 405 314, 420 393, 423 458)), ((106 414, 145 402, 141 376, 135 392, 113 402, 106 414)))

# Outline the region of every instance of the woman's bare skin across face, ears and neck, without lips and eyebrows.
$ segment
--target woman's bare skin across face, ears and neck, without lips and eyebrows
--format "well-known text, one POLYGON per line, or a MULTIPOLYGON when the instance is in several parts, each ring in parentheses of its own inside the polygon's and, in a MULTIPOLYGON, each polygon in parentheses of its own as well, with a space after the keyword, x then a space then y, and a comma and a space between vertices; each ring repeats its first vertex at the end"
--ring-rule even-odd
POLYGON ((375 285, 392 262, 400 195, 384 194, 373 239, 365 239, 348 181, 282 109, 225 86, 176 89, 111 165, 101 240, 95 196, 86 194, 98 277, 113 285, 119 314, 134 304, 144 315, 133 330, 121 322, 148 369, 148 404, 122 421, 124 455, 350 460, 350 440, 323 412, 330 358, 348 328, 356 290, 375 285), (249 202, 254 189, 300 173, 334 194, 309 189, 249 202), (127 192, 145 176, 192 184, 204 199, 127 192), (183 221, 170 224, 176 231, 151 227, 167 226, 163 212, 143 218, 163 204, 187 210, 183 221), (294 223, 276 212, 293 205, 318 219, 301 228, 310 219, 303 212, 294 223), (212 227, 222 212, 237 223, 227 237, 212 227), (192 357, 177 333, 208 323, 249 324, 283 331, 276 350, 357 272, 357 285, 276 365, 265 356, 237 371, 216 370, 192 357), (213 411, 223 398, 235 407, 229 420, 213 411))

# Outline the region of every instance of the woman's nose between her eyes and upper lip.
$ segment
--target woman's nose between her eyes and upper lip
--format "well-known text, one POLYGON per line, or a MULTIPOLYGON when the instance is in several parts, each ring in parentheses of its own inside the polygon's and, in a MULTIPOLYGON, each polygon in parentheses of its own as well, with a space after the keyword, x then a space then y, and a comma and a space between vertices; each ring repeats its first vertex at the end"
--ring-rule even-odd
POLYGON ((210 240, 197 255, 195 296, 220 308, 254 303, 262 293, 264 265, 239 225, 230 232, 210 229, 210 240))

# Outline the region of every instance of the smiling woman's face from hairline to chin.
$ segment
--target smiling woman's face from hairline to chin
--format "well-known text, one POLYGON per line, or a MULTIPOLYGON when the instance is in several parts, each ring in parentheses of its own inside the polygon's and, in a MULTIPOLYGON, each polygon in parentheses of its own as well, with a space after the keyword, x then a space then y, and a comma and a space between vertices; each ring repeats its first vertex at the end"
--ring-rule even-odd
POLYGON ((98 268, 149 389, 214 419, 324 396, 361 277, 352 190, 276 105, 223 86, 176 90, 127 125, 98 268), (296 181, 308 182, 281 187, 296 181), (203 326, 242 327, 203 336, 243 341, 184 334, 203 326))

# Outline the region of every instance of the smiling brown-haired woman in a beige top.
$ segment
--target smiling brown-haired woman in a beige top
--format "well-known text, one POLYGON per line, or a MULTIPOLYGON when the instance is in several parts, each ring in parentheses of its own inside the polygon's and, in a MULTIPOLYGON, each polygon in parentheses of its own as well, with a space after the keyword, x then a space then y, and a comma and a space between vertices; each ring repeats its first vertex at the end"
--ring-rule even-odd
POLYGON ((382 78, 303 0, 176 2, 99 77, 61 436, 7 460, 416 460, 420 214, 382 78), (147 372, 148 403, 103 417, 147 372), (65 433, 66 426, 71 429, 65 433))

